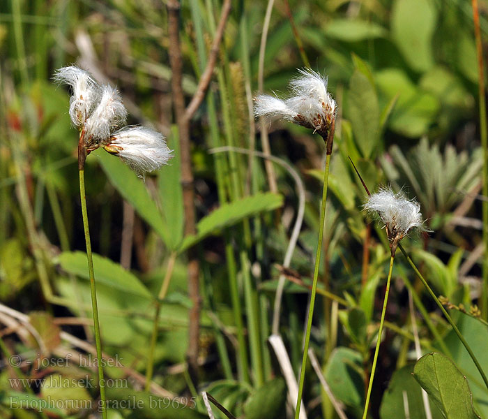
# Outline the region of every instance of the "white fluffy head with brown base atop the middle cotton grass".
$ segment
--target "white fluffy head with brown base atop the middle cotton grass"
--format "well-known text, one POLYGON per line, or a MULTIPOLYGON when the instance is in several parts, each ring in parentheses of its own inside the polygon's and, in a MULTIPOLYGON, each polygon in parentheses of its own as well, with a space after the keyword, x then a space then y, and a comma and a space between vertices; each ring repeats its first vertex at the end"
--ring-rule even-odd
POLYGON ((324 138, 337 115, 337 105, 327 91, 327 78, 312 70, 300 70, 289 83, 290 97, 261 94, 254 99, 256 117, 275 117, 317 131, 324 138))

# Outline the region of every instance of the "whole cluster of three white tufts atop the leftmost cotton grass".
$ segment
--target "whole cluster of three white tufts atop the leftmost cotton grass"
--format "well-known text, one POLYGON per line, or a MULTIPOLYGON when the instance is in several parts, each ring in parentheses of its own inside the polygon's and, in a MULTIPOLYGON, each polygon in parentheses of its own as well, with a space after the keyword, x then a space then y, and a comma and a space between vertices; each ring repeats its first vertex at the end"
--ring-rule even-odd
POLYGON ((116 88, 100 86, 90 73, 76 66, 59 68, 54 80, 68 84, 73 91, 70 118, 83 134, 86 152, 103 147, 119 156, 139 177, 157 170, 173 156, 160 133, 142 126, 121 128, 127 110, 116 88))

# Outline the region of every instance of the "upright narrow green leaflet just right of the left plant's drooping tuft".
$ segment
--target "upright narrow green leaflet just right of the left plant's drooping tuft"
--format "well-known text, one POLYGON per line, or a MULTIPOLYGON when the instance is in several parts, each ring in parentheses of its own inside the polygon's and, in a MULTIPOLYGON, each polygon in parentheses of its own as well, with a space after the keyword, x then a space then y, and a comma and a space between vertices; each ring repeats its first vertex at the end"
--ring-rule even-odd
POLYGON ((161 197, 161 210, 165 217, 168 237, 167 247, 174 250, 183 240, 183 189, 181 188, 181 156, 178 141, 178 128, 171 127, 167 138, 169 149, 174 150, 174 157, 164 166, 158 176, 161 197))

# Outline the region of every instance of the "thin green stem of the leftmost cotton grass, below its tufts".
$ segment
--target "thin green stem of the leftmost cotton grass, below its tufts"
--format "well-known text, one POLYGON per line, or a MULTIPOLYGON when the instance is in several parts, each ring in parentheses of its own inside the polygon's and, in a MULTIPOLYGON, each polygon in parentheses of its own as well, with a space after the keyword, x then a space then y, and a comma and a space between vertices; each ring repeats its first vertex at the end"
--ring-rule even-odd
POLYGON ((102 410, 102 418, 107 419, 107 408, 105 399, 105 380, 103 378, 102 368, 102 342, 100 339, 100 322, 98 321, 98 304, 95 286, 95 273, 93 272, 93 256, 91 254, 90 229, 88 226, 88 212, 86 211, 86 194, 85 194, 85 177, 84 168, 79 167, 79 197, 82 201, 82 215, 83 215, 83 229, 85 233, 86 242, 86 258, 88 258, 88 271, 90 275, 90 291, 91 291, 91 309, 93 311, 93 326, 95 328, 95 345, 97 348, 97 364, 98 364, 98 385, 100 387, 100 408, 102 410))

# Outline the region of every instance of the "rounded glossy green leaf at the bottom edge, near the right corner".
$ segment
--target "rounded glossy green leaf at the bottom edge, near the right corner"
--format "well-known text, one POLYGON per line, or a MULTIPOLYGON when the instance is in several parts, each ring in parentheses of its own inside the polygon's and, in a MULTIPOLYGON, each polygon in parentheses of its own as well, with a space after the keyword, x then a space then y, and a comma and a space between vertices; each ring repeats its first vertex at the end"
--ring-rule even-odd
POLYGON ((449 358, 440 353, 428 353, 415 364, 413 376, 445 419, 480 419, 473 408, 467 378, 449 358))

